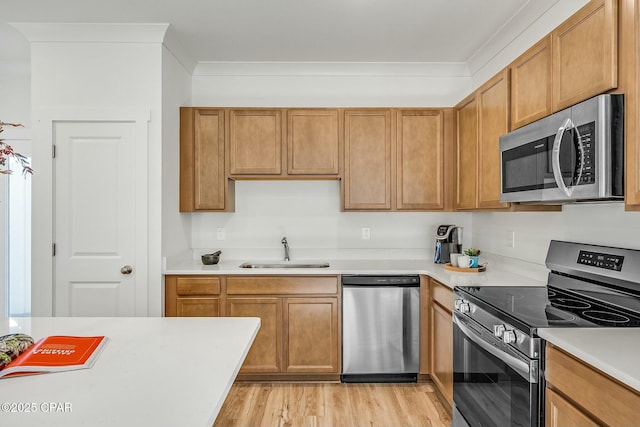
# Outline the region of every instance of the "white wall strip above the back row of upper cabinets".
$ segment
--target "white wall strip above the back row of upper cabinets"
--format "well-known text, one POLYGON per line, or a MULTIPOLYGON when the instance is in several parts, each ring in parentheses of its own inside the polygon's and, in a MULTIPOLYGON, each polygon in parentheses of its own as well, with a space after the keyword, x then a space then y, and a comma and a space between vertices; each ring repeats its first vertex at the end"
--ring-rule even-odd
POLYGON ((201 63, 193 105, 446 107, 471 92, 466 64, 201 63))

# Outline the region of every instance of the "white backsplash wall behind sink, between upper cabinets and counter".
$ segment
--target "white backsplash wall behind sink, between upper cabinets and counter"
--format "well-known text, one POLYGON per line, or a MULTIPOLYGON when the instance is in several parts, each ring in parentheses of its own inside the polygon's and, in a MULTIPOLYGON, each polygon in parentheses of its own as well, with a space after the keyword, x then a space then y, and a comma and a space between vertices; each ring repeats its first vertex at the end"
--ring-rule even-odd
MULTIPOLYGON (((226 259, 277 259, 286 236, 291 258, 431 259, 439 224, 469 230, 469 213, 340 212, 338 181, 237 181, 236 212, 192 214, 195 255, 221 249, 226 259), (361 239, 369 227, 371 240, 361 239), (224 228, 226 239, 217 240, 224 228)), ((470 232, 463 233, 467 246, 470 232)))

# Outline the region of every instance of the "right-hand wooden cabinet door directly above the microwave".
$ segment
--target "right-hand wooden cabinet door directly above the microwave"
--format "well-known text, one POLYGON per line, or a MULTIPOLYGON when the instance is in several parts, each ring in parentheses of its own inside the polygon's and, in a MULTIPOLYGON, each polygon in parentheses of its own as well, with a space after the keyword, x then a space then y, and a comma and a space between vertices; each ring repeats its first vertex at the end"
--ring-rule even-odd
POLYGON ((617 86, 617 5, 592 0, 551 33, 554 111, 617 86))

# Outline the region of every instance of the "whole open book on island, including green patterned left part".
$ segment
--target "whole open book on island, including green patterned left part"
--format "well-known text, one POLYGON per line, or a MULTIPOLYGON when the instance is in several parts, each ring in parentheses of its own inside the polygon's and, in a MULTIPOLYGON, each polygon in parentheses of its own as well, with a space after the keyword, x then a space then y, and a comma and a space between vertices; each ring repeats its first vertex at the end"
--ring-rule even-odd
POLYGON ((0 337, 0 378, 71 371, 93 366, 109 339, 49 336, 34 344, 25 334, 0 337))

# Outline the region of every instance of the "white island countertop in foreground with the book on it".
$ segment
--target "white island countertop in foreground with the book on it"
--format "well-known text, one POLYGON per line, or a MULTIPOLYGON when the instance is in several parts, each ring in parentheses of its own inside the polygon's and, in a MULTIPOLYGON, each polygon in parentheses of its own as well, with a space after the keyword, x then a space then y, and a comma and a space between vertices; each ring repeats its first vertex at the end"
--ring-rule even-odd
POLYGON ((0 318, 0 335, 109 337, 90 369, 0 380, 0 424, 211 427, 259 327, 257 318, 0 318), (12 403, 35 405, 11 412, 12 403))

